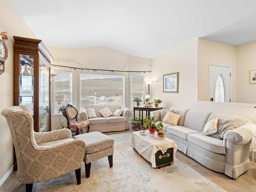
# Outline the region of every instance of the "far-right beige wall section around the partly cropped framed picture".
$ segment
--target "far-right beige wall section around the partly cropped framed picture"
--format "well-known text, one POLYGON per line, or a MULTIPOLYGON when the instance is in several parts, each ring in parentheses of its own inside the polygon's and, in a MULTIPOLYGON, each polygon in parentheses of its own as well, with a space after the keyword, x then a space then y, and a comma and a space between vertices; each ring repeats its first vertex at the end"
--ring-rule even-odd
POLYGON ((237 46, 237 102, 256 103, 256 84, 249 84, 251 69, 256 69, 256 41, 237 46))

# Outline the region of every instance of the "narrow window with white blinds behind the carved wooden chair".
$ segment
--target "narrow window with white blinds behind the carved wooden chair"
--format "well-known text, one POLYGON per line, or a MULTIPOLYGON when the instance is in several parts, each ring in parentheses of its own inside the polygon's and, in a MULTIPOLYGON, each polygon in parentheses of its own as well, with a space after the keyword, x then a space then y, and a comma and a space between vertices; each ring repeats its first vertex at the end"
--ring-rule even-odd
POLYGON ((62 105, 72 104, 72 73, 54 72, 54 114, 59 114, 62 105))

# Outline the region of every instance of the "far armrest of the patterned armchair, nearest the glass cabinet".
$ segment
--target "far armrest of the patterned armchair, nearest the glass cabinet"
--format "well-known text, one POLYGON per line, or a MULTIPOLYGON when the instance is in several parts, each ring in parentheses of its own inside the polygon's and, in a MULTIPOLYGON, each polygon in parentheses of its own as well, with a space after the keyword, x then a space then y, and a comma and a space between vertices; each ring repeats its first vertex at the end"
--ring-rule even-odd
POLYGON ((68 139, 72 137, 69 129, 61 129, 51 132, 34 132, 35 141, 37 144, 68 139))

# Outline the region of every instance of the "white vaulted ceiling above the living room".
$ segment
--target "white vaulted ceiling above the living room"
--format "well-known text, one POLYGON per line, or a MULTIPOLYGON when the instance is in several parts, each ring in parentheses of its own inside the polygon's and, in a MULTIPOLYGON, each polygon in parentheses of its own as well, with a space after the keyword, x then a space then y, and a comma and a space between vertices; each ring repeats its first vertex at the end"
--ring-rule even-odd
POLYGON ((12 1, 47 46, 109 47, 148 58, 256 13, 255 0, 12 1))

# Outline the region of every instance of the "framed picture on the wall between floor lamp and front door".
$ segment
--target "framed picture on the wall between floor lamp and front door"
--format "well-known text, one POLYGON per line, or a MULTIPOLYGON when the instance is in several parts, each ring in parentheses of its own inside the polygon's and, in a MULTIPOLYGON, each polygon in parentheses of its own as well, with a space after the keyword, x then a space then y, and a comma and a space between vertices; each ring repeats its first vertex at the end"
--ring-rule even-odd
POLYGON ((179 72, 163 75, 163 92, 179 93, 179 72))

